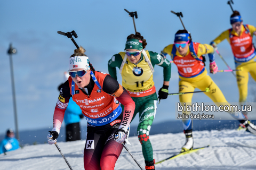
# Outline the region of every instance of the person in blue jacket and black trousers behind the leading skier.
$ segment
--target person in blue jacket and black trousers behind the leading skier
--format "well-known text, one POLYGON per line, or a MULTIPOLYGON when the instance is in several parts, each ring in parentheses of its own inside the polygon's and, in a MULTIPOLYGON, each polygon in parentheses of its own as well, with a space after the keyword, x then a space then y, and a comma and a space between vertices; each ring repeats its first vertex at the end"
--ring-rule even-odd
MULTIPOLYGON (((64 80, 68 80, 69 74, 64 72, 64 80)), ((59 86, 59 90, 61 91, 61 86, 59 86)), ((80 119, 84 118, 80 107, 73 101, 72 97, 70 97, 68 102, 68 107, 65 111, 64 121, 66 125, 66 141, 75 141, 81 140, 81 130, 80 130, 80 119)))

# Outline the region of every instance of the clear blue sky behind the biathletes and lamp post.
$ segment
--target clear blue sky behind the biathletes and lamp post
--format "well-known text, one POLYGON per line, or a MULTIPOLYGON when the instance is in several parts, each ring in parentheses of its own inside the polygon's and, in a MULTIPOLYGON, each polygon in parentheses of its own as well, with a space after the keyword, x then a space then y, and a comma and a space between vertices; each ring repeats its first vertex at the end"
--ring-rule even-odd
MULTIPOLYGON (((256 1, 234 0, 244 23, 256 25, 252 11, 256 1)), ((134 33, 132 19, 124 11, 137 11, 137 31, 147 40, 146 49, 153 52, 173 43, 174 34, 183 29, 180 20, 170 11, 182 12, 182 21, 191 32, 193 41, 210 43, 222 31, 230 28, 231 9, 227 1, 1 1, 0 2, 0 133, 14 129, 10 62, 7 49, 17 48, 13 55, 15 90, 19 129, 51 127, 58 98, 57 87, 68 70, 68 58, 75 46, 57 31, 75 30, 78 45, 86 49, 96 70, 108 72, 107 62, 123 51, 126 37, 134 33)), ((255 38, 254 38, 255 41, 255 38)), ((233 55, 227 41, 219 45, 219 52, 234 68, 233 55)), ((167 56, 170 59, 170 56, 167 56)), ((227 69, 216 54, 219 69, 227 69)), ((209 59, 206 57, 209 70, 209 59)), ((156 66, 154 81, 157 91, 162 87, 163 70, 156 66)), ((231 73, 211 74, 226 99, 238 101, 238 89, 231 73)), ((118 80, 121 77, 118 75, 118 80)), ((253 82, 254 83, 254 82, 253 82)), ((255 84, 254 84, 255 85, 255 84)), ((251 85, 252 86, 252 85, 251 85)), ((170 92, 178 92, 177 67, 172 65, 170 92)), ((174 120, 178 96, 169 96, 158 105, 155 122, 174 120)), ((193 101, 210 102, 204 94, 196 94, 193 101)), ((86 124, 85 120, 82 124, 86 124)), ((132 124, 138 124, 135 118, 132 124)))

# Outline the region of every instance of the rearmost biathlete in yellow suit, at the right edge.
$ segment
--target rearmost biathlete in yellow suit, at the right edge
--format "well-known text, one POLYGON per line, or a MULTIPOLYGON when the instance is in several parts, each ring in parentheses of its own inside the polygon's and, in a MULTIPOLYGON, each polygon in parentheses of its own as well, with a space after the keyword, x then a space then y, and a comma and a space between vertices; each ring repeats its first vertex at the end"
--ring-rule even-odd
POLYGON ((224 39, 228 40, 234 54, 236 69, 242 71, 236 72, 237 86, 239 89, 239 102, 244 105, 247 98, 249 73, 256 81, 256 52, 252 44, 252 37, 256 35, 256 28, 253 25, 244 24, 238 11, 230 16, 232 28, 224 31, 215 38, 211 45, 217 48, 217 45, 224 39))

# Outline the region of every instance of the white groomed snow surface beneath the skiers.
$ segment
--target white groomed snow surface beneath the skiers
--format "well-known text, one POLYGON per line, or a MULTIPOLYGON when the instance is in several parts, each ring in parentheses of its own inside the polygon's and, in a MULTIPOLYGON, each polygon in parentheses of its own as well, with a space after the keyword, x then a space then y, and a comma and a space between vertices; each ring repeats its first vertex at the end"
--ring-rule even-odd
MULTIPOLYGON (((209 148, 167 160, 156 169, 256 169, 256 136, 237 130, 212 130, 193 132, 194 148, 209 148)), ((141 145, 137 137, 129 138, 127 146, 142 167, 145 167, 141 145)), ((180 151, 185 142, 183 133, 150 135, 156 162, 180 151)), ((58 142, 71 167, 84 169, 83 149, 85 140, 58 142)), ((25 146, 22 149, 0 155, 0 169, 69 169, 54 145, 25 146)), ((123 149, 115 169, 139 169, 131 156, 123 149)))

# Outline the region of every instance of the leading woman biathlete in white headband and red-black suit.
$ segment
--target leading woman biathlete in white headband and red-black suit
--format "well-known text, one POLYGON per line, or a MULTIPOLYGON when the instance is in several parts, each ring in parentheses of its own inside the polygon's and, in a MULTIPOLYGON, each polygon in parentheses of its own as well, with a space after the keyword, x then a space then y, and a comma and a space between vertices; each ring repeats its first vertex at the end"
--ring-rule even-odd
POLYGON ((114 169, 129 136, 135 104, 127 91, 110 75, 91 71, 85 49, 75 49, 69 58, 68 80, 62 85, 47 140, 55 143, 60 134, 70 97, 80 106, 87 124, 84 169, 114 169), (124 105, 124 112, 120 103, 124 105), (114 140, 115 139, 115 140, 114 140))

